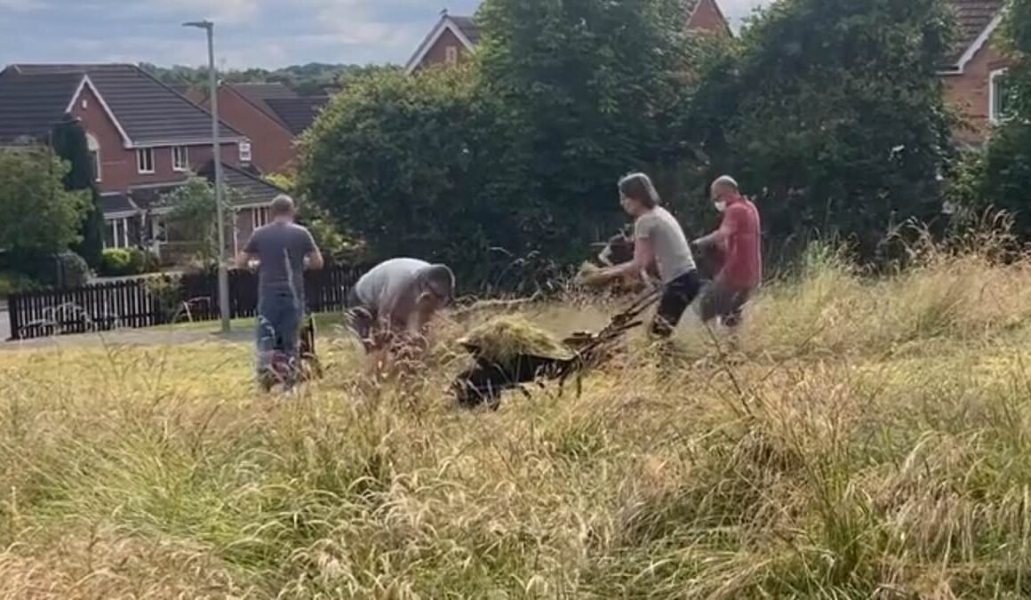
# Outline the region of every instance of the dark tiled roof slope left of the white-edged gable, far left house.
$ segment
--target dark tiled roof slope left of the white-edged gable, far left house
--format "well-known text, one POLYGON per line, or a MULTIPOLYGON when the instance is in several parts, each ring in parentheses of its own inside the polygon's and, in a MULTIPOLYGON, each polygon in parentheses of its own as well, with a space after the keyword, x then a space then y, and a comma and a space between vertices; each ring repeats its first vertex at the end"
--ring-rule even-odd
POLYGON ((21 75, 0 72, 0 142, 22 137, 46 138, 64 116, 82 75, 74 73, 21 75))

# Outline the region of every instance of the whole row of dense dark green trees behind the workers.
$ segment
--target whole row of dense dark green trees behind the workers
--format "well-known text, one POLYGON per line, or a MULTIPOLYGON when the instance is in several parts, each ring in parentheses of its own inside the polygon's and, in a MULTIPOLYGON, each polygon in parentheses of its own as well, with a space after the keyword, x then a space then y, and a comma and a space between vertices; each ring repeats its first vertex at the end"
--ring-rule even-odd
POLYGON ((738 39, 687 35, 677 0, 486 0, 476 19, 471 64, 358 76, 305 139, 301 188, 377 258, 568 264, 626 220, 616 181, 636 169, 692 235, 722 172, 777 245, 821 232, 872 257, 940 212, 937 0, 780 0, 738 39))

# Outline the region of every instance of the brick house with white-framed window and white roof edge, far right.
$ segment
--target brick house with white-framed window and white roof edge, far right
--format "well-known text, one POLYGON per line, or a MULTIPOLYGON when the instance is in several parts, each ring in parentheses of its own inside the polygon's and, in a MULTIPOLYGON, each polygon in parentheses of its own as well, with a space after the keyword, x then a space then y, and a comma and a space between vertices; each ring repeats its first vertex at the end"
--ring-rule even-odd
POLYGON ((1006 59, 993 41, 1002 22, 1004 0, 949 0, 956 15, 959 40, 940 70, 946 101, 958 108, 967 128, 961 141, 985 141, 1004 110, 1006 59))

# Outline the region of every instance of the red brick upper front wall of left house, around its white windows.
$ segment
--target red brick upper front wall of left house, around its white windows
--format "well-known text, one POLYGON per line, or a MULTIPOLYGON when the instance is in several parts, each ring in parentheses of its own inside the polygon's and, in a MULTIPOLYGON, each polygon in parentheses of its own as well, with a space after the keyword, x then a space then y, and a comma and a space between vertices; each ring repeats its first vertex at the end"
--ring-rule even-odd
MULTIPOLYGON (((131 186, 166 184, 182 178, 182 173, 172 170, 171 146, 154 148, 154 173, 137 172, 136 151, 126 149, 118 128, 89 88, 84 88, 82 94, 75 99, 72 112, 82 120, 86 131, 100 143, 101 180, 97 187, 101 192, 125 192, 131 186)), ((190 146, 188 154, 191 167, 197 171, 211 160, 211 145, 190 146)), ((235 142, 222 144, 222 156, 226 163, 239 165, 239 149, 235 142)))

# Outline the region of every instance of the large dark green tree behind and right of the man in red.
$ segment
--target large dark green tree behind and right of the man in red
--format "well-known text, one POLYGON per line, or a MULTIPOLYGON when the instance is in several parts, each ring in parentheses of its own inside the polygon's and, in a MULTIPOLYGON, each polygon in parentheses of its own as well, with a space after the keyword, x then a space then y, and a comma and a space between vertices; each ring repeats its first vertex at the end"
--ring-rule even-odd
MULTIPOLYGON (((689 131, 758 196, 776 241, 819 231, 870 258, 893 224, 940 212, 950 115, 937 0, 780 0, 708 56, 689 131)), ((703 188, 699 188, 702 191, 703 188)))

